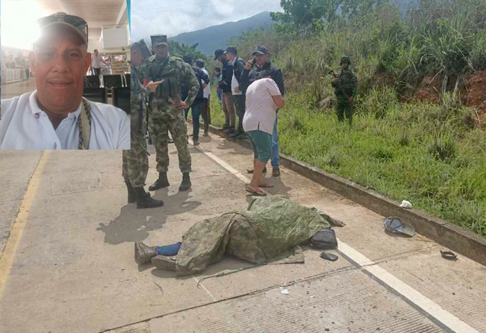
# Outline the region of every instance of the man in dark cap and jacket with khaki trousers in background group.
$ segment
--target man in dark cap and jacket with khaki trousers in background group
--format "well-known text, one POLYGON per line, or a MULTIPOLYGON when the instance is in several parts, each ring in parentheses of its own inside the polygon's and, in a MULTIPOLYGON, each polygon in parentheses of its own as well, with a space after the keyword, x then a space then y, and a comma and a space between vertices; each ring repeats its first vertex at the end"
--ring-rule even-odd
POLYGON ((223 132, 231 134, 235 132, 235 108, 233 107, 233 93, 231 92, 231 80, 233 79, 233 64, 223 50, 217 49, 215 51, 215 60, 219 60, 223 65, 221 71, 222 80, 219 83, 223 93, 223 112, 224 112, 224 126, 223 132))

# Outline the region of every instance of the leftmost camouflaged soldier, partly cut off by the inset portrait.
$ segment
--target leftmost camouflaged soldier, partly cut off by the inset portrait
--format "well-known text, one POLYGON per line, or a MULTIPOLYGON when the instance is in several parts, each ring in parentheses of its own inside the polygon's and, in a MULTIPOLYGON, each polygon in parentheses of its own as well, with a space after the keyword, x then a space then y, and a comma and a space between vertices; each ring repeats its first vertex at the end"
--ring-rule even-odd
POLYGON ((131 149, 123 151, 122 176, 128 189, 128 203, 137 202, 137 208, 160 207, 162 200, 150 197, 144 190, 146 174, 149 171, 149 157, 146 151, 146 108, 145 88, 140 84, 143 77, 142 65, 151 55, 144 40, 135 42, 131 46, 131 149))

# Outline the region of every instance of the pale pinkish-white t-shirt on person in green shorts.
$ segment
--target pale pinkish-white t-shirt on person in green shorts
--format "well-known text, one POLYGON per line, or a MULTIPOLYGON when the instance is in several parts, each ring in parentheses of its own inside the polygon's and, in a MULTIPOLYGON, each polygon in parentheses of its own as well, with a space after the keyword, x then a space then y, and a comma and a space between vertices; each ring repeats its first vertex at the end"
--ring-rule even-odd
POLYGON ((280 96, 277 84, 271 78, 261 78, 246 89, 246 110, 243 129, 273 133, 277 107, 272 96, 280 96))

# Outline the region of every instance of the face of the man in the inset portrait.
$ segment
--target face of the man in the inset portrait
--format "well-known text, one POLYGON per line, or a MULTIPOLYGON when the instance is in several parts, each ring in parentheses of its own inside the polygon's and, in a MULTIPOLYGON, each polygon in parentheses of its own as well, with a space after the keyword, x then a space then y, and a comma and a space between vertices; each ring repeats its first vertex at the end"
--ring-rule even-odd
POLYGON ((83 96, 91 53, 81 39, 65 30, 52 31, 29 53, 37 85, 37 99, 51 112, 76 110, 83 96))

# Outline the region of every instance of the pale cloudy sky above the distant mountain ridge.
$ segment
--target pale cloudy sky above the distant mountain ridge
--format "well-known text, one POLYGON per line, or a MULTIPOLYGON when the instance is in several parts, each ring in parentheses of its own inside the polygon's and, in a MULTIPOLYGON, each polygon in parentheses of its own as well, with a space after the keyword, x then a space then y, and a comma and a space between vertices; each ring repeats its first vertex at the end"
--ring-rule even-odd
POLYGON ((280 0, 132 0, 131 40, 158 34, 174 37, 280 10, 280 0))

